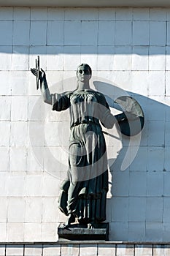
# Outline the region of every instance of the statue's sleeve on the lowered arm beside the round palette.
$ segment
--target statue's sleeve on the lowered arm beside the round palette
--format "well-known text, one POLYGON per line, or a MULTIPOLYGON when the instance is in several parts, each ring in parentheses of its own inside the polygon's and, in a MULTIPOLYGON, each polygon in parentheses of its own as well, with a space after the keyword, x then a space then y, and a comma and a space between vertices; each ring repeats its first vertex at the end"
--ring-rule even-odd
POLYGON ((111 129, 115 124, 115 116, 112 115, 109 105, 103 94, 99 96, 99 119, 101 124, 107 129, 111 129))

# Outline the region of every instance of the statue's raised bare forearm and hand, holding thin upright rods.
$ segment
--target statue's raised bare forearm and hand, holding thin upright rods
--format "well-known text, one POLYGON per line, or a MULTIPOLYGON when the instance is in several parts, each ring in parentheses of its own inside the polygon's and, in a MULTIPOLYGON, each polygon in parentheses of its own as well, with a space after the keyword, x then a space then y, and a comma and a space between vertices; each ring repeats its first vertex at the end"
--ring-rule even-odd
MULTIPOLYGON (((36 75, 36 69, 31 69, 31 72, 33 73, 33 75, 36 75)), ((46 75, 43 69, 39 71, 39 80, 40 80, 40 89, 42 92, 42 97, 44 102, 52 105, 52 95, 50 94, 50 90, 47 86, 46 75)))

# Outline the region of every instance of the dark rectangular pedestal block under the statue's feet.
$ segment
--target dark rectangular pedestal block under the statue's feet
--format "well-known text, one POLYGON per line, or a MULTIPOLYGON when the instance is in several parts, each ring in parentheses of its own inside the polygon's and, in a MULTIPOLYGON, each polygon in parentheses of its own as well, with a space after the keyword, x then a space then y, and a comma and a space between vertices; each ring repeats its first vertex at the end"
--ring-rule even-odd
POLYGON ((72 224, 67 228, 63 228, 62 225, 63 223, 58 226, 58 238, 60 241, 108 241, 109 239, 109 223, 100 223, 93 228, 88 228, 80 224, 72 224))

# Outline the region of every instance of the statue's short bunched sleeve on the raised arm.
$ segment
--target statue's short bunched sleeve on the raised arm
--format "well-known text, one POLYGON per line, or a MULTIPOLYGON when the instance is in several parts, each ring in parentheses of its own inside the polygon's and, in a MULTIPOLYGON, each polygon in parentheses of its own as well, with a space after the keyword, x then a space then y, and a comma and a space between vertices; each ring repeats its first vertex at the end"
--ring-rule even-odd
POLYGON ((52 94, 53 110, 62 111, 70 107, 70 93, 52 94))

